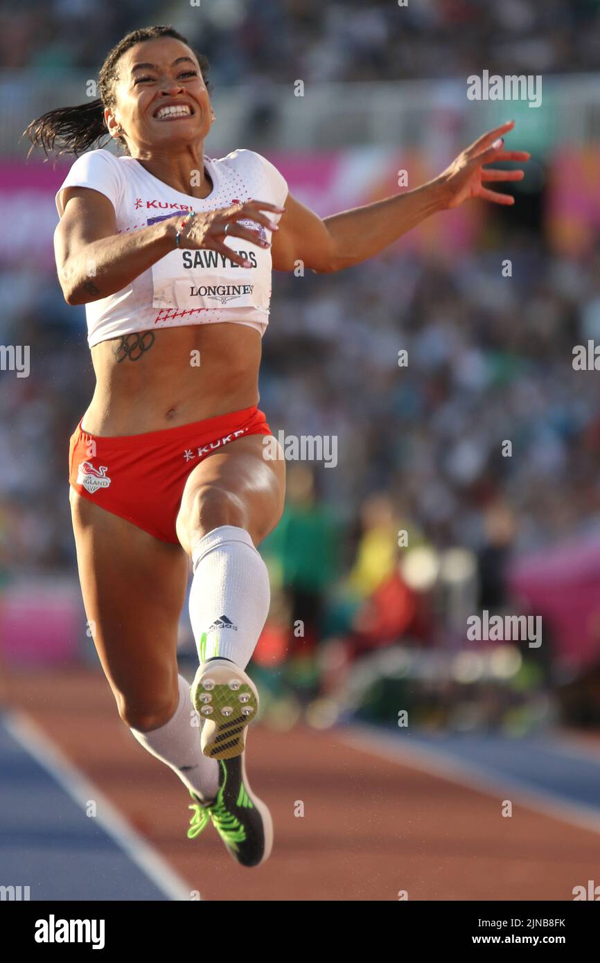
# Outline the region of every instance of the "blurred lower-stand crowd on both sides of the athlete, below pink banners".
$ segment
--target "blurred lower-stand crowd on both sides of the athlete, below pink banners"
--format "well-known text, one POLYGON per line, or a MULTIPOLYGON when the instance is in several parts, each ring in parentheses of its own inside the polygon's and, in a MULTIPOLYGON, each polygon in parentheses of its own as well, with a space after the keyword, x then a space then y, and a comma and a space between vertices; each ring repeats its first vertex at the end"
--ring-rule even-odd
MULTIPOLYGON (((334 438, 337 455, 289 462, 287 508, 261 546, 273 604, 255 664, 281 688, 282 718, 322 693, 324 658, 339 694, 341 670, 390 644, 458 650, 468 613, 509 611, 512 559, 598 528, 597 373, 572 361, 600 340, 599 277, 598 255, 553 256, 518 228, 458 260, 390 250, 341 273, 274 274, 260 405, 275 434, 334 438), (450 582, 432 592, 448 552, 450 582)), ((0 343, 31 346, 29 377, 0 373, 0 582, 74 577, 67 444, 93 390, 85 311, 53 273, 0 273, 0 291, 0 343)), ((544 639, 523 661, 539 698, 557 683, 544 639)))

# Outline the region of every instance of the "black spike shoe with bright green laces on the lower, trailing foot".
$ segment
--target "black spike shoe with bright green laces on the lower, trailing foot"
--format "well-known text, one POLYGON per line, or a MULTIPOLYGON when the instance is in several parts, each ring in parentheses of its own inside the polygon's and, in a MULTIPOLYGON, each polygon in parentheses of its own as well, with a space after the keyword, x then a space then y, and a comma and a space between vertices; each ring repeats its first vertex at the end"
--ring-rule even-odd
POLYGON ((273 848, 273 820, 268 807, 249 787, 244 753, 219 761, 219 792, 214 802, 202 803, 190 791, 194 815, 188 839, 196 839, 212 821, 227 852, 240 866, 259 866, 273 848))

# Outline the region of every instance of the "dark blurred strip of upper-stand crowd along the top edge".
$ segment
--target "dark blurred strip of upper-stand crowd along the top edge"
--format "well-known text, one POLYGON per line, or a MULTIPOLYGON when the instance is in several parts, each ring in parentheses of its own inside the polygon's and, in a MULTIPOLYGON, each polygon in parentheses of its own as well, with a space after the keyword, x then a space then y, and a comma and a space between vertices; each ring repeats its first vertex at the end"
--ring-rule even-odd
POLYGON ((0 10, 0 65, 97 69, 129 30, 171 23, 216 85, 594 70, 600 0, 30 0, 0 10))

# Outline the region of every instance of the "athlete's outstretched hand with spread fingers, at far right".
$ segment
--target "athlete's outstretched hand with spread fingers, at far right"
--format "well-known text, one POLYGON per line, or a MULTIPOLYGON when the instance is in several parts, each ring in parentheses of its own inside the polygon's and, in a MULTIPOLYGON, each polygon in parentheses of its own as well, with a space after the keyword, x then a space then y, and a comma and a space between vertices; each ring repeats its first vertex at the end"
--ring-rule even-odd
POLYGON ((513 204, 514 197, 499 191, 489 191, 484 183, 522 180, 525 172, 519 170, 485 170, 484 164, 496 161, 529 161, 532 156, 526 150, 505 150, 504 137, 514 127, 514 120, 483 134, 470 147, 458 154, 449 168, 437 179, 442 189, 443 206, 458 207, 471 197, 482 197, 494 204, 513 204))

